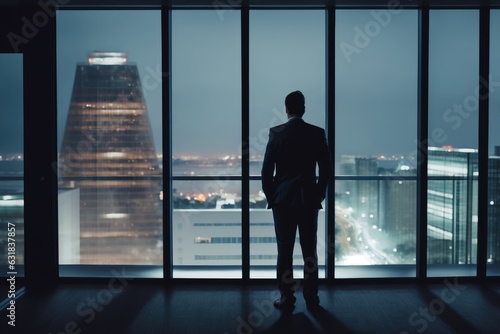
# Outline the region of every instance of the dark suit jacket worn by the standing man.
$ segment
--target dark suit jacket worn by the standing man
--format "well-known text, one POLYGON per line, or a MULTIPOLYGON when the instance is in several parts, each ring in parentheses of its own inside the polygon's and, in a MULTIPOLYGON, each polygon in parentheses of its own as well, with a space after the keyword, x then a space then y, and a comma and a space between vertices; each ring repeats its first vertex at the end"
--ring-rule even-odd
POLYGON ((322 128, 302 118, 291 118, 270 129, 262 165, 262 189, 268 208, 307 206, 320 209, 332 174, 332 160, 322 128))

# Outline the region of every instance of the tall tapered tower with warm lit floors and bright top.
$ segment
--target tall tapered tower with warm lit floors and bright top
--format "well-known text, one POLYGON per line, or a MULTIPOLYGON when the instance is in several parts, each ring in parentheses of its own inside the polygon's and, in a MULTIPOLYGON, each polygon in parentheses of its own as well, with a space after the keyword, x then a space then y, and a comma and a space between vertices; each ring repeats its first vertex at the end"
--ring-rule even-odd
POLYGON ((79 189, 81 264, 162 264, 162 173, 126 57, 91 52, 76 68, 59 176, 60 188, 79 189))

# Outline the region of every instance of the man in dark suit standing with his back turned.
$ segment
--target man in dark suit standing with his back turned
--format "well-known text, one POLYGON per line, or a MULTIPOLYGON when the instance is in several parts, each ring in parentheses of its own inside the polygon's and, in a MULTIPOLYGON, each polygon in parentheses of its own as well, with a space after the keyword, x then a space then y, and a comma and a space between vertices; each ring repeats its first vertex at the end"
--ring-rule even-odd
POLYGON ((270 129, 262 165, 262 189, 268 209, 273 210, 278 244, 276 273, 281 298, 274 306, 290 310, 295 305, 293 247, 298 227, 304 259, 303 296, 312 309, 319 306, 318 211, 326 197, 333 167, 325 131, 302 119, 304 95, 300 91, 288 94, 285 107, 288 121, 270 129))

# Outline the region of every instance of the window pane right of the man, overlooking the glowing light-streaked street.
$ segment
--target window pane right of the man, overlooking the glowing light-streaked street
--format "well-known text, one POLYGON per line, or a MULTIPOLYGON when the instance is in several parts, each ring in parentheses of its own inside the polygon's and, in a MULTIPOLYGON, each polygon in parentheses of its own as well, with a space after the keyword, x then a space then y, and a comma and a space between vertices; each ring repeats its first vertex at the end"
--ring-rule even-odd
POLYGON ((337 11, 336 277, 415 276, 417 19, 337 11))

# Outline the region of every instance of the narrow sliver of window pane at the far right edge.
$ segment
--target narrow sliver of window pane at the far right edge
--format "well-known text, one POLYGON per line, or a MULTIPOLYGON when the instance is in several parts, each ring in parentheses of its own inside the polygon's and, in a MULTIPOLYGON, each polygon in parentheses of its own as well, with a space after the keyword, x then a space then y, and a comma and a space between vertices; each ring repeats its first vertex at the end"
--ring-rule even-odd
POLYGON ((488 275, 500 275, 500 10, 491 11, 488 172, 488 275))

